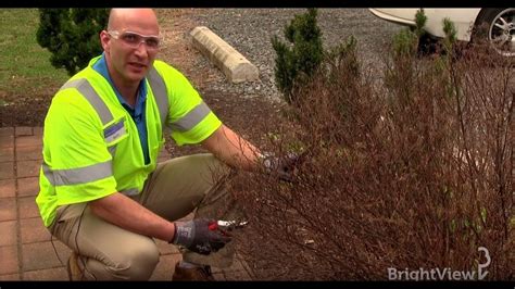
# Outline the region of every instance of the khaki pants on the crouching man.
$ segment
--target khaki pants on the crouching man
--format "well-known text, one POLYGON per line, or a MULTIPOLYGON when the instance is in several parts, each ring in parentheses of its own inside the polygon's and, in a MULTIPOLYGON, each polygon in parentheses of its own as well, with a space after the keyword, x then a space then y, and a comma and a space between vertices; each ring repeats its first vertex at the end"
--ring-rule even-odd
MULTIPOLYGON (((210 153, 177 158, 160 163, 143 191, 131 198, 168 221, 196 209, 196 217, 234 219, 238 210, 225 186, 230 173, 210 153)), ((87 203, 60 206, 49 230, 79 255, 85 279, 145 280, 159 262, 152 238, 103 221, 87 203)), ((185 261, 216 267, 230 266, 235 253, 231 243, 210 255, 180 250, 185 261)))

